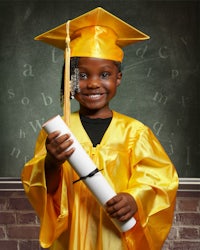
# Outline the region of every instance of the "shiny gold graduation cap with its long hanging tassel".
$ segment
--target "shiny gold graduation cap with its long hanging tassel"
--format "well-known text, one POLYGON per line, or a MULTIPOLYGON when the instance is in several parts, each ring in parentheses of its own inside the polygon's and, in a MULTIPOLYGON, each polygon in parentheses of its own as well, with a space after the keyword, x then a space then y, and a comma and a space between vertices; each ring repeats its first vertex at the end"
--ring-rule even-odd
POLYGON ((67 124, 70 113, 70 57, 95 57, 121 62, 123 47, 148 38, 148 35, 101 7, 35 38, 65 50, 64 117, 67 124))

